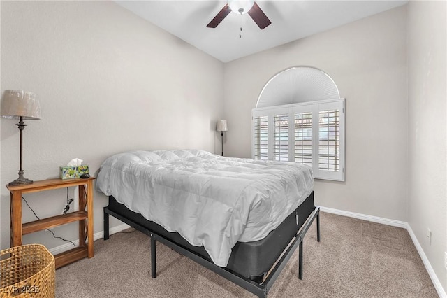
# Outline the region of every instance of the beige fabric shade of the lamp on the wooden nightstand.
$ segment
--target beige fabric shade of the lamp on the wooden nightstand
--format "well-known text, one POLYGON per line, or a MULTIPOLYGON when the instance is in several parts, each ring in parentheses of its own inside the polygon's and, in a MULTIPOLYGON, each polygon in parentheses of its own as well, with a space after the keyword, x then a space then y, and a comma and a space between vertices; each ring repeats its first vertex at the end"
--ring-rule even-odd
POLYGON ((36 94, 22 90, 5 90, 1 101, 1 117, 8 119, 41 119, 41 104, 36 94))

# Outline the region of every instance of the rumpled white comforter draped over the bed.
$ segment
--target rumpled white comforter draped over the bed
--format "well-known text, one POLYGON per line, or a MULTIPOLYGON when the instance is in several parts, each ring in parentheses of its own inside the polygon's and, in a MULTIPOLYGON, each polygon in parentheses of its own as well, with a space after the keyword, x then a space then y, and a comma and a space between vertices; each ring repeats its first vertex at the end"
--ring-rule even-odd
POLYGON ((96 188, 226 267, 237 241, 263 239, 312 192, 309 166, 203 150, 133 151, 103 162, 96 188))

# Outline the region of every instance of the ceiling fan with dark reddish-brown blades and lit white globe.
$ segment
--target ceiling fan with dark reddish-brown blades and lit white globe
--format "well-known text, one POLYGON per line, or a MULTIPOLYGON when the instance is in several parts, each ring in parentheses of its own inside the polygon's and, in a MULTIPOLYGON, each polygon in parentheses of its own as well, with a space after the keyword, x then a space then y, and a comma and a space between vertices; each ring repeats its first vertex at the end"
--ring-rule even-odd
POLYGON ((216 28, 220 22, 230 13, 237 13, 238 15, 244 15, 248 13, 259 28, 264 29, 268 25, 272 24, 268 19, 267 15, 261 10, 261 8, 256 4, 254 0, 228 0, 228 3, 223 6, 221 11, 217 13, 214 19, 211 20, 210 24, 207 24, 208 28, 216 28))

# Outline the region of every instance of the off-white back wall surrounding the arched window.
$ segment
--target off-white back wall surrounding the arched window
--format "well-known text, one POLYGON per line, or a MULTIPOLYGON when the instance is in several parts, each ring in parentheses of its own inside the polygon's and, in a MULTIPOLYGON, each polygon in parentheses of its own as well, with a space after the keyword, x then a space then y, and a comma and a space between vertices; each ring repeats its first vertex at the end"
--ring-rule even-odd
POLYGON ((406 7, 225 65, 226 152, 251 155, 251 108, 291 66, 329 74, 346 98, 346 182, 316 180, 316 204, 406 220, 406 7))

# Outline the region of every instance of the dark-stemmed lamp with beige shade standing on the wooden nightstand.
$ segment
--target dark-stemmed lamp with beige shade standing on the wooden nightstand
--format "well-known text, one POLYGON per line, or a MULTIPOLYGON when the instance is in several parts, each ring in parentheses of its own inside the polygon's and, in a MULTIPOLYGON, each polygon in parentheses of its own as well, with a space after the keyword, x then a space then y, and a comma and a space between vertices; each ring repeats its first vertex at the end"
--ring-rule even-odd
POLYGON ((27 126, 23 120, 41 119, 41 105, 36 94, 21 90, 6 90, 1 102, 1 117, 8 119, 18 119, 17 127, 20 130, 20 169, 19 178, 10 182, 9 185, 26 185, 33 183, 33 180, 24 178, 22 168, 22 132, 27 126))

